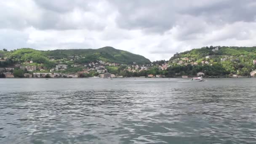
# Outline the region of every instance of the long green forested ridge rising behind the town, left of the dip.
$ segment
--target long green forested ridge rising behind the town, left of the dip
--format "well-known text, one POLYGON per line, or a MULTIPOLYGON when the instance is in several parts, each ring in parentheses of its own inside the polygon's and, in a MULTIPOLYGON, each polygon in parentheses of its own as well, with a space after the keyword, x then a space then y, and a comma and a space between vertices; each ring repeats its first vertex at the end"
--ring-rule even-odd
POLYGON ((31 48, 21 48, 14 51, 0 51, 2 57, 8 57, 12 62, 34 61, 36 63, 49 63, 49 56, 55 60, 70 59, 74 57, 74 62, 84 64, 92 61, 105 61, 118 64, 149 64, 149 59, 144 56, 130 53, 128 51, 118 50, 112 47, 99 49, 68 49, 53 51, 38 51, 31 48))

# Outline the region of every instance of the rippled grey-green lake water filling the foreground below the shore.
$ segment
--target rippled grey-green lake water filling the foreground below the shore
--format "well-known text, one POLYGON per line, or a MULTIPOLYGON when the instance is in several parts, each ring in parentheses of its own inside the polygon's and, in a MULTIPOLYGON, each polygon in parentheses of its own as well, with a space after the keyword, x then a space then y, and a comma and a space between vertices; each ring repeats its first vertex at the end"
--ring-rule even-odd
POLYGON ((0 144, 256 144, 256 79, 0 79, 0 144))

